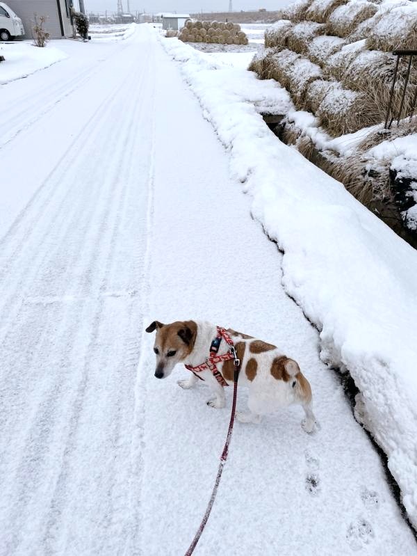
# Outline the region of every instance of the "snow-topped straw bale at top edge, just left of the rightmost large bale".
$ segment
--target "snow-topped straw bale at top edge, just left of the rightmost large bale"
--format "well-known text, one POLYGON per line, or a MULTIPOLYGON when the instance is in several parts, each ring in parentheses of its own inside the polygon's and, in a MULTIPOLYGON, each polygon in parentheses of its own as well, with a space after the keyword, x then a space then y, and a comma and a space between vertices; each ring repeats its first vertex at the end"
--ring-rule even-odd
POLYGON ((377 13, 375 3, 368 1, 349 1, 339 6, 327 19, 327 33, 345 38, 359 24, 377 13))

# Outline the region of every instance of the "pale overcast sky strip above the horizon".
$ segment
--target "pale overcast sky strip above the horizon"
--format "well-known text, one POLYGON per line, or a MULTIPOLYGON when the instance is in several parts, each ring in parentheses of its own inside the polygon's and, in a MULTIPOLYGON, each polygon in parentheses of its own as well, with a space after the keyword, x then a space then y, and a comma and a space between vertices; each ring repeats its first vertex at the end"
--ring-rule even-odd
MULTIPOLYGON (((291 0, 232 0, 234 10, 279 10, 282 6, 290 3, 291 0)), ((78 3, 77 0, 74 2, 78 3)), ((147 13, 157 12, 177 12, 177 13, 196 13, 196 12, 215 12, 227 11, 229 0, 129 0, 131 12, 136 10, 147 13)), ((117 0, 84 0, 87 12, 104 12, 109 10, 117 11, 117 0)), ((123 8, 127 10, 127 0, 122 0, 123 8)))

